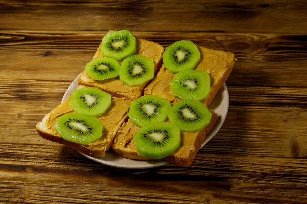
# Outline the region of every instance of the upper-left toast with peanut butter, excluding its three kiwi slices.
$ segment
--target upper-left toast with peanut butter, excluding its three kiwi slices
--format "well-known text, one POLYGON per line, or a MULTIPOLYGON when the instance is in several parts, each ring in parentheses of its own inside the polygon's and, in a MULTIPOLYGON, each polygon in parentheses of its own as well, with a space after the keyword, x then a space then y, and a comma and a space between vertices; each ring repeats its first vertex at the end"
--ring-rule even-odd
MULTIPOLYGON (((101 44, 99 45, 93 59, 103 57, 102 53, 100 52, 100 48, 101 44)), ((161 68, 163 52, 164 48, 162 45, 137 38, 136 54, 153 59, 155 74, 161 68)), ((114 97, 123 97, 128 100, 135 100, 143 94, 144 88, 149 84, 149 81, 140 86, 129 87, 123 84, 118 77, 103 81, 96 81, 93 80, 85 71, 83 71, 79 77, 78 83, 88 87, 97 87, 102 91, 110 93, 114 97)))

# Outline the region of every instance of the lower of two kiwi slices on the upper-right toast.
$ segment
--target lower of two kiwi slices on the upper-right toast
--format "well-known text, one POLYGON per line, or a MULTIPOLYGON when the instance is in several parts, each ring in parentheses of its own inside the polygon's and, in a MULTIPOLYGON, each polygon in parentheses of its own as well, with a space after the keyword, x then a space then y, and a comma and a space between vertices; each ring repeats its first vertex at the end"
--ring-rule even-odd
POLYGON ((183 70, 173 78, 170 88, 176 97, 200 101, 210 92, 210 76, 207 71, 183 70))

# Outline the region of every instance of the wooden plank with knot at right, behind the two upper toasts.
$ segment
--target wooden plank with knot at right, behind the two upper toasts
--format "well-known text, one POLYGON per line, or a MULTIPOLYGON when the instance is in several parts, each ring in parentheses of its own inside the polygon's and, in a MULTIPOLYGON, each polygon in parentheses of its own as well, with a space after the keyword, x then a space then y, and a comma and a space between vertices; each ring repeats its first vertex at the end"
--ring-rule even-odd
MULTIPOLYGON (((1 31, 0 78, 73 81, 91 60, 105 33, 1 31)), ((306 35, 163 32, 135 35, 164 46, 191 39, 201 46, 233 52, 238 61, 227 81, 231 86, 307 87, 306 35)))

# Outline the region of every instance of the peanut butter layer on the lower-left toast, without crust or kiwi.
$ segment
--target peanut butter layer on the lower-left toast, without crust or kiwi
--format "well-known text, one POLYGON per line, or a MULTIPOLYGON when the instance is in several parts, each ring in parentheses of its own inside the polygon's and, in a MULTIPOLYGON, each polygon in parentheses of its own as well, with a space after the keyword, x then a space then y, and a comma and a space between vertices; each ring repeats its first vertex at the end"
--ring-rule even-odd
MULTIPOLYGON (((103 124, 102 137, 93 143, 87 144, 88 148, 92 150, 104 149, 104 151, 110 148, 116 132, 128 117, 130 104, 130 100, 112 97, 111 108, 103 115, 97 117, 103 124)), ((69 99, 58 105, 47 115, 47 118, 44 118, 46 128, 53 135, 61 137, 55 131, 55 120, 66 113, 75 113, 69 105, 69 99)))

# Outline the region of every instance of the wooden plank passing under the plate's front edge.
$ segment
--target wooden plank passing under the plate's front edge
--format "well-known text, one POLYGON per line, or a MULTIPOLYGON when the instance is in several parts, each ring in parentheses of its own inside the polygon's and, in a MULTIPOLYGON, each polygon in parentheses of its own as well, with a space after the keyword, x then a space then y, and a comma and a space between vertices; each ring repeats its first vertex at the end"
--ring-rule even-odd
POLYGON ((206 179, 206 177, 216 177, 239 179, 242 182, 257 184, 274 182, 280 185, 289 185, 295 182, 297 186, 307 187, 307 174, 305 171, 307 160, 305 158, 259 157, 248 153, 244 154, 244 152, 231 154, 230 149, 226 150, 225 154, 219 154, 217 151, 206 152, 205 148, 199 151, 190 167, 178 167, 169 164, 158 169, 126 170, 98 164, 71 148, 56 144, 19 143, 12 145, 3 143, 3 148, 0 150, 0 162, 3 166, 0 169, 9 166, 13 169, 33 168, 40 171, 59 171, 58 173, 62 171, 98 170, 101 172, 112 171, 112 174, 122 176, 147 175, 151 173, 165 178, 171 178, 172 175, 174 177, 181 175, 183 178, 186 177, 191 180, 194 178, 200 181, 206 179), (19 148, 19 151, 13 149, 14 147, 19 148))

